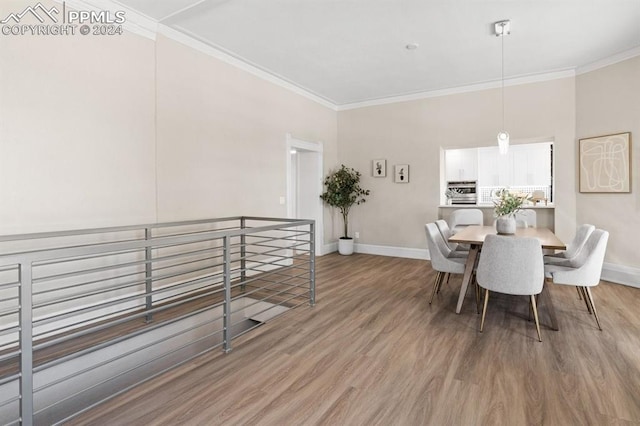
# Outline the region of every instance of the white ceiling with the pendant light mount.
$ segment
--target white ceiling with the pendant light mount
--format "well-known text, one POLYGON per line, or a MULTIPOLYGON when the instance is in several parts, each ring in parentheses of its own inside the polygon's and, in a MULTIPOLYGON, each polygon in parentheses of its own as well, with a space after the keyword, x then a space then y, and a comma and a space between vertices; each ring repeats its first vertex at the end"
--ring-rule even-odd
POLYGON ((500 81, 503 19, 506 78, 640 54, 640 0, 116 3, 336 106, 500 81))

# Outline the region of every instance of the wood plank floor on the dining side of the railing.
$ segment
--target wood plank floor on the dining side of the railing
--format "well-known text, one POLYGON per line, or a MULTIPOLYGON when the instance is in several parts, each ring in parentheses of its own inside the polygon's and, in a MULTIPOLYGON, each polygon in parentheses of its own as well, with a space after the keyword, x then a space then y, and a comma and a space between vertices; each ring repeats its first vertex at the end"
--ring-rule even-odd
MULTIPOLYGON (((637 425, 640 290, 552 286, 560 331, 527 321, 527 298, 475 295, 460 277, 432 305, 428 261, 317 260, 317 305, 74 419, 78 425, 637 425)), ((544 307, 541 321, 548 323, 544 307)))

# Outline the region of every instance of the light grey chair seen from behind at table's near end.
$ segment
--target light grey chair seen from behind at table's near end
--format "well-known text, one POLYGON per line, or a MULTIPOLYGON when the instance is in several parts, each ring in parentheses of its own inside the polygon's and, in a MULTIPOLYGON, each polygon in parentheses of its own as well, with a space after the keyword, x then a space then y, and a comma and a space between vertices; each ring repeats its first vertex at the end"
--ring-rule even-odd
POLYGON ((482 245, 476 280, 485 289, 480 332, 484 328, 490 291, 529 296, 538 340, 542 342, 535 296, 540 294, 544 285, 544 264, 542 247, 537 238, 487 235, 482 245))

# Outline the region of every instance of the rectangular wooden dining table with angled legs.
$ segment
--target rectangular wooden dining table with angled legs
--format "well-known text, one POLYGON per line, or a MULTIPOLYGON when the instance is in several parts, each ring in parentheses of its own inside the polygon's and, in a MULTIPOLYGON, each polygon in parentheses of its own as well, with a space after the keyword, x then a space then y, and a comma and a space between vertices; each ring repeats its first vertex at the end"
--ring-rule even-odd
MULTIPOLYGON (((458 304, 456 306, 456 313, 459 314, 462 310, 462 303, 464 302, 465 295, 469 284, 471 284, 471 278, 473 277, 473 271, 475 270, 478 258, 481 255, 482 244, 487 235, 497 234, 495 226, 476 226, 471 225, 463 228, 461 231, 449 237, 449 242, 457 244, 468 244, 470 246, 469 256, 464 268, 464 275, 462 277, 462 286, 460 287, 460 295, 458 296, 458 304)), ((548 228, 517 228, 513 237, 530 237, 537 238, 540 241, 540 245, 543 249, 550 250, 566 250, 565 244, 548 228)), ((541 254, 542 255, 542 254, 541 254)), ((551 295, 547 289, 547 285, 543 285, 542 293, 540 297, 544 298, 544 304, 547 307, 549 317, 551 320, 551 328, 558 330, 558 321, 556 319, 555 309, 553 307, 553 301, 551 295)))

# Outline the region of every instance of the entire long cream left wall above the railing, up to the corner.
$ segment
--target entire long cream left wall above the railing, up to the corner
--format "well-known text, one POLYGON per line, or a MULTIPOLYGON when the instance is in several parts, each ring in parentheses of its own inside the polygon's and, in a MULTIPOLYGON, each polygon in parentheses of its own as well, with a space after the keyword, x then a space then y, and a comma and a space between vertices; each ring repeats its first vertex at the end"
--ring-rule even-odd
POLYGON ((335 111, 163 36, 1 36, 0 52, 0 235, 285 217, 286 134, 337 163, 335 111))

